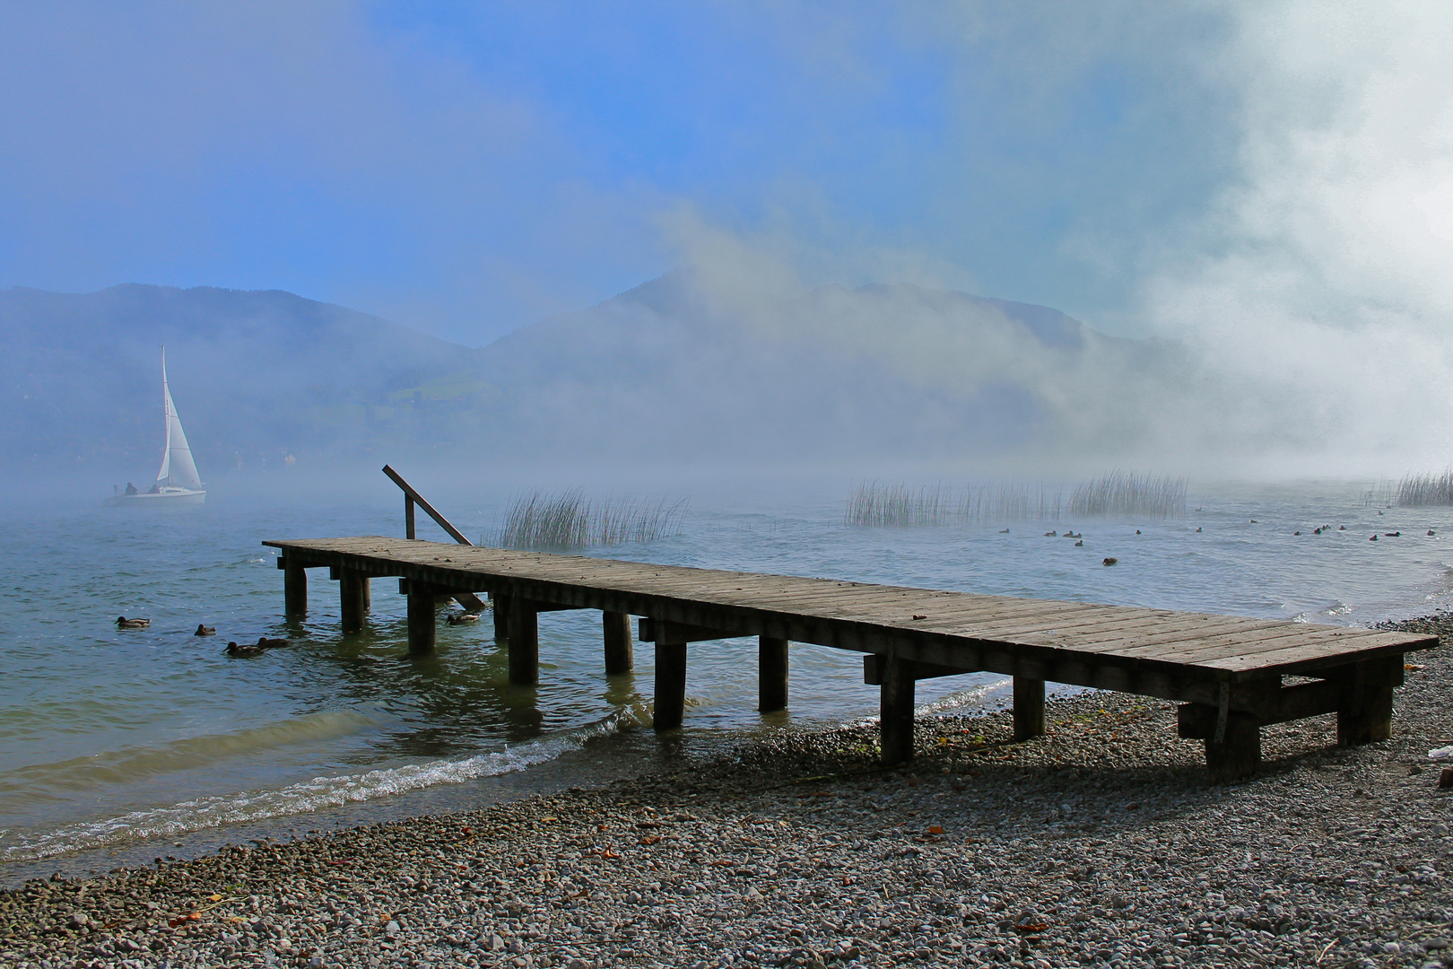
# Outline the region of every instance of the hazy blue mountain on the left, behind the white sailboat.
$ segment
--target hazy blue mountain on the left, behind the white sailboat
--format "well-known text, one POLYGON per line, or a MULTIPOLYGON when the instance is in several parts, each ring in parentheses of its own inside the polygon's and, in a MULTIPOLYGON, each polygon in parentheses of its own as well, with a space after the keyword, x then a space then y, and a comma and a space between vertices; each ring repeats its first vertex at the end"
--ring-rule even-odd
POLYGON ((288 292, 208 286, 0 291, 0 453, 126 468, 160 456, 166 344, 203 472, 366 446, 373 410, 472 353, 288 292))

